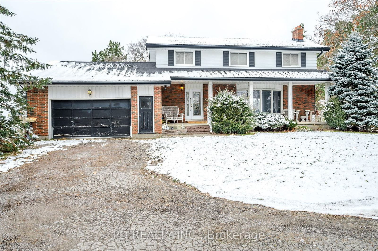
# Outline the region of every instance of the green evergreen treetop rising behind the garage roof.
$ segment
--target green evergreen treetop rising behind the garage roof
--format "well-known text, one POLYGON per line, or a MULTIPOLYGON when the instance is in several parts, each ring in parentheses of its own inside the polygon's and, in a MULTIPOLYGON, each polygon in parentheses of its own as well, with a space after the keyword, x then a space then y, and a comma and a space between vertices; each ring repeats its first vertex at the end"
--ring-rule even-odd
POLYGON ((92 62, 126 62, 127 54, 124 54, 124 50, 120 43, 110 40, 103 51, 92 51, 92 62))

